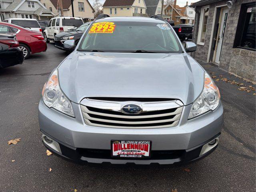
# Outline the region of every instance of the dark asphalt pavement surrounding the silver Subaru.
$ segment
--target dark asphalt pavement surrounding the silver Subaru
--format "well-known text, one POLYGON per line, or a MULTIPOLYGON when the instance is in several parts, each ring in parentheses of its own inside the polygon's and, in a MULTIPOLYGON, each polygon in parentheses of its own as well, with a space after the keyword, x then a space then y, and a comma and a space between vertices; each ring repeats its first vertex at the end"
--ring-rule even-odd
POLYGON ((216 76, 224 106, 224 128, 218 148, 203 160, 181 167, 80 166, 47 156, 38 126, 38 101, 50 72, 66 56, 66 52, 48 44, 45 53, 0 70, 1 192, 255 191, 256 103, 255 91, 247 92, 255 86, 213 64, 202 66, 216 76), (8 145, 14 138, 21 140, 8 145))

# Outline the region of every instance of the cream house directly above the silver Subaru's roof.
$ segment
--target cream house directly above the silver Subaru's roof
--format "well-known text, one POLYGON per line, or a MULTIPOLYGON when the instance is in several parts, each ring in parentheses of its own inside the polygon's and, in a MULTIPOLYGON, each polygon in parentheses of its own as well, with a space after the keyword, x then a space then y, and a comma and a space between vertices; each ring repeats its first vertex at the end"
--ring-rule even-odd
POLYGON ((111 17, 148 16, 144 0, 106 0, 102 7, 103 13, 111 17))

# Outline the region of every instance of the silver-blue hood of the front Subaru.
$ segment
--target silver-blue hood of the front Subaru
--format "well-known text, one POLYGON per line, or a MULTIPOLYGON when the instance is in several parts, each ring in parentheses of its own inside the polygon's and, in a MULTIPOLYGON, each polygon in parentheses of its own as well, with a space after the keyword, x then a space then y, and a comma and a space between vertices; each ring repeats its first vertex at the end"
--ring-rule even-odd
POLYGON ((187 54, 70 54, 58 67, 60 87, 73 102, 88 97, 171 98, 190 104, 204 70, 187 54))

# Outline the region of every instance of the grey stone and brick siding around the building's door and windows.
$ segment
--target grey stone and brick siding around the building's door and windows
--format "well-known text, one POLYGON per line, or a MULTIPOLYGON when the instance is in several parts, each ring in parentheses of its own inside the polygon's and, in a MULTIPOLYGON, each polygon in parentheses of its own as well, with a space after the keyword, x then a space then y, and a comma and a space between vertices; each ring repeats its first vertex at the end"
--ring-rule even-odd
MULTIPOLYGON (((219 68, 255 82, 256 52, 241 48, 233 48, 241 4, 249 2, 255 2, 255 0, 237 0, 234 6, 229 9, 219 68)), ((204 45, 202 46, 198 44, 196 52, 192 53, 192 56, 198 61, 207 62, 215 7, 222 5, 226 5, 226 1, 210 4, 204 45)), ((198 11, 201 12, 201 7, 198 8, 198 11)), ((199 23, 200 15, 196 14, 193 34, 193 42, 195 43, 198 39, 199 23), (197 22, 198 20, 199 22, 197 22)))

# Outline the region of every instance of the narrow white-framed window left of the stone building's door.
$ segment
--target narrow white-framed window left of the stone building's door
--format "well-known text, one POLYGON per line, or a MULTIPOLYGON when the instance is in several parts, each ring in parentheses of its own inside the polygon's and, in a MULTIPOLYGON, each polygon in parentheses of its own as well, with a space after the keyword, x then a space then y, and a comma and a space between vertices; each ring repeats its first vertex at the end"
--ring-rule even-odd
POLYGON ((209 15, 209 6, 202 7, 197 44, 204 45, 208 15, 209 15))

